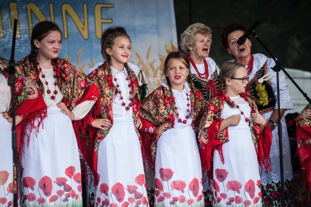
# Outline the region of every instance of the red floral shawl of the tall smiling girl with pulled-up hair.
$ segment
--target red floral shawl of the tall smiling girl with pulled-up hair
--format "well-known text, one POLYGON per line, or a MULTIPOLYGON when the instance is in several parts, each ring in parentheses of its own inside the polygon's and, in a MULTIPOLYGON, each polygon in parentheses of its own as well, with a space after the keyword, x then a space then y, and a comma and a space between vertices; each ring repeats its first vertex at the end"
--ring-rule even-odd
MULTIPOLYGON (((113 81, 109 76, 107 69, 107 65, 104 62, 97 69, 93 70, 90 74, 88 74, 88 78, 99 88, 100 91, 100 113, 97 116, 93 117, 97 119, 108 119, 113 123, 112 116, 112 103, 113 103, 113 81)), ((136 94, 134 94, 132 104, 133 104, 133 121, 136 132, 139 137, 138 129, 136 128, 137 118, 139 117, 139 90, 138 90, 138 81, 136 79, 136 75, 132 70, 128 71, 131 73, 131 83, 136 87, 136 94)), ((92 108, 91 111, 96 111, 97 109, 92 108)), ((94 113, 96 114, 96 113, 94 113)), ((97 129, 92 126, 87 126, 86 129, 80 132, 77 135, 77 138, 85 141, 87 145, 87 151, 83 152, 87 154, 88 160, 87 164, 92 170, 93 173, 97 172, 97 147, 100 140, 104 139, 111 127, 104 127, 104 130, 97 129)))

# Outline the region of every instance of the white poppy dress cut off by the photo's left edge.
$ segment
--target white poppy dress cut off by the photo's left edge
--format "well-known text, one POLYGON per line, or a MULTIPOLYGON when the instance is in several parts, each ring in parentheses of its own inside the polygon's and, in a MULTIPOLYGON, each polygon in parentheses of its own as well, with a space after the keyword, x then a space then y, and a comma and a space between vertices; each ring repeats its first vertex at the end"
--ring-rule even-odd
POLYGON ((2 116, 3 112, 8 112, 10 102, 10 87, 0 74, 0 204, 4 206, 13 203, 12 126, 2 116))

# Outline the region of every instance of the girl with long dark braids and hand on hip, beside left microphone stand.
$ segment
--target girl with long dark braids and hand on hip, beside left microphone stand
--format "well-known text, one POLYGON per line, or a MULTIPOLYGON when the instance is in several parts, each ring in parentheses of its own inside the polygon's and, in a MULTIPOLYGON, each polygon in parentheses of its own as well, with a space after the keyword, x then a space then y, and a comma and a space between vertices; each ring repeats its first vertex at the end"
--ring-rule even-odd
POLYGON ((17 130, 21 130, 22 205, 81 206, 75 130, 99 91, 71 63, 58 58, 62 33, 50 21, 35 25, 31 53, 16 72, 17 130))

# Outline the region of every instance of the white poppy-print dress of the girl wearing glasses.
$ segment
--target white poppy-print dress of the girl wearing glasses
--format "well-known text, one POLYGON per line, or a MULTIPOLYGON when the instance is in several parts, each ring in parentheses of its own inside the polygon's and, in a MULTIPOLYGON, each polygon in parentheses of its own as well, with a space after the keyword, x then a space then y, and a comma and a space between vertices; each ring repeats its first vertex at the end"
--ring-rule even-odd
MULTIPOLYGON (((251 108, 240 97, 230 97, 240 106, 246 118, 250 118, 251 108)), ((241 114, 238 108, 224 103, 221 119, 241 114)), ((217 150, 213 156, 213 197, 214 206, 261 206, 261 185, 257 154, 248 122, 241 121, 237 126, 228 126, 229 141, 223 144, 223 164, 217 150)))

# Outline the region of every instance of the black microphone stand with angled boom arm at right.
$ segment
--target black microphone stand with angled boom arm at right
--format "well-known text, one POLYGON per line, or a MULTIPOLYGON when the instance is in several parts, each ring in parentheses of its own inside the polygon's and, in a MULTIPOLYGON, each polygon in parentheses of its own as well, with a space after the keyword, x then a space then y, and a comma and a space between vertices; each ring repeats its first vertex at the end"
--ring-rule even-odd
POLYGON ((278 132, 278 144, 279 144, 279 157, 280 157, 280 174, 281 174, 281 190, 282 190, 282 206, 285 207, 285 196, 284 196, 284 171, 283 171, 283 147, 282 147, 282 123, 281 123, 281 112, 280 112, 280 88, 279 88, 279 76, 278 72, 283 70, 286 76, 293 82, 293 84, 298 88, 298 90, 303 94, 306 100, 311 104, 311 100, 308 97, 307 93, 305 93, 294 81, 294 79, 287 73, 284 69, 283 64, 281 64, 273 54, 266 48, 266 46, 260 41, 258 35, 253 32, 253 37, 258 40, 260 45, 269 53, 271 58, 275 61, 276 65, 271 68, 276 71, 276 88, 277 88, 277 114, 278 114, 278 124, 277 124, 277 132, 278 132))

